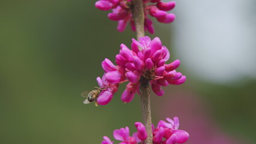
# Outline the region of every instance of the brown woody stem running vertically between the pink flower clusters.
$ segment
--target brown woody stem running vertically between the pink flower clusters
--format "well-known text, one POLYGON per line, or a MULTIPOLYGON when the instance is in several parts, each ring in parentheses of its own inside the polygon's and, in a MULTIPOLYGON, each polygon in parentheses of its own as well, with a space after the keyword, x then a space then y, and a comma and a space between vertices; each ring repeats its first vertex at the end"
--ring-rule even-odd
MULTIPOLYGON (((145 36, 144 31, 144 5, 142 0, 133 0, 133 20, 136 26, 136 36, 137 40, 139 37, 145 36)), ((141 50, 141 47, 139 47, 141 50)), ((141 95, 141 110, 142 110, 142 119, 143 124, 147 130, 147 139, 145 144, 152 143, 152 128, 151 128, 151 108, 150 108, 150 83, 145 77, 141 76, 139 80, 139 93, 141 95)))

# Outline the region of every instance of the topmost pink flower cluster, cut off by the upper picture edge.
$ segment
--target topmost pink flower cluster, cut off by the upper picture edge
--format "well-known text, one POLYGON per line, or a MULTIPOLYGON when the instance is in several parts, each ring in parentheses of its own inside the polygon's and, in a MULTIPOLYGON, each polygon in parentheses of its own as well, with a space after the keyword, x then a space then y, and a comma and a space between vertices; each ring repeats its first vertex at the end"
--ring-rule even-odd
MULTIPOLYGON (((171 23, 175 19, 175 15, 167 13, 175 7, 175 2, 161 2, 161 0, 144 0, 144 28, 151 34, 154 33, 153 22, 148 19, 150 16, 156 17, 158 22, 171 23), (153 4, 148 5, 151 2, 153 4)), ((133 1, 131 0, 100 0, 97 1, 95 6, 100 10, 111 10, 112 13, 108 14, 109 19, 118 21, 117 30, 123 32, 126 29, 127 23, 133 31, 136 30, 135 23, 132 19, 133 1)))

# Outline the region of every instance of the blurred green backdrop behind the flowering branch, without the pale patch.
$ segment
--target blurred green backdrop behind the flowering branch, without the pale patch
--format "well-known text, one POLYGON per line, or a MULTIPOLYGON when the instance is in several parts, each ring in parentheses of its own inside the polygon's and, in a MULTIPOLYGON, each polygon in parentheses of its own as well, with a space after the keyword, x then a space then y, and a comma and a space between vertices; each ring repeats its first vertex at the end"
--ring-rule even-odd
MULTIPOLYGON (((97 10, 94 2, 1 1, 0 143, 100 143, 103 136, 114 139, 112 131, 117 128, 129 126, 135 132, 134 122, 141 121, 139 97, 121 103, 124 86, 106 106, 82 103, 81 92, 97 86, 96 77, 103 74, 103 59, 114 61, 120 44, 130 46, 135 38, 129 26, 123 33, 116 31, 117 22, 108 19, 108 11, 97 10)), ((156 33, 147 35, 160 37, 174 61, 178 56, 169 26, 155 24, 156 33)), ((198 103, 203 103, 200 109, 207 107, 206 112, 187 113, 207 115, 209 125, 231 139, 236 137, 237 143, 256 143, 255 79, 246 79, 239 86, 203 82, 182 66, 182 56, 179 59, 178 71, 189 79, 182 86, 166 87, 166 95, 172 95, 172 89, 177 95, 184 91, 197 95, 198 103)), ((168 113, 172 112, 168 106, 177 101, 152 97, 154 124, 175 115, 182 118, 182 114, 168 113), (164 106, 167 108, 159 108, 164 106)), ((194 125, 194 120, 183 117, 181 128, 189 131, 186 125, 194 125), (182 126, 183 121, 187 122, 182 126)), ((193 137, 192 130, 189 132, 193 137)))

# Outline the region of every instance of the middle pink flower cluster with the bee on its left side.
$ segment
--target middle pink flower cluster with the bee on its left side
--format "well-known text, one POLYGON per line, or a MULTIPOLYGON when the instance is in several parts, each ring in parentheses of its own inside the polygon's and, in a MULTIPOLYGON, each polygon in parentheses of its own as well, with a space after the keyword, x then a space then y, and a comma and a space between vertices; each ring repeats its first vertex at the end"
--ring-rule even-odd
POLYGON ((175 71, 180 65, 178 59, 171 64, 165 64, 170 56, 169 50, 162 46, 158 37, 153 40, 147 36, 139 38, 139 41, 132 39, 132 50, 124 44, 121 44, 120 47, 120 53, 115 56, 117 65, 114 65, 109 59, 102 62, 105 74, 102 79, 97 77, 97 82, 100 88, 105 90, 100 92, 97 99, 98 104, 108 104, 117 92, 118 86, 127 81, 129 83, 121 95, 121 100, 124 103, 129 103, 139 90, 141 77, 150 82, 151 88, 158 96, 164 94, 161 86, 180 85, 185 82, 186 76, 175 71))

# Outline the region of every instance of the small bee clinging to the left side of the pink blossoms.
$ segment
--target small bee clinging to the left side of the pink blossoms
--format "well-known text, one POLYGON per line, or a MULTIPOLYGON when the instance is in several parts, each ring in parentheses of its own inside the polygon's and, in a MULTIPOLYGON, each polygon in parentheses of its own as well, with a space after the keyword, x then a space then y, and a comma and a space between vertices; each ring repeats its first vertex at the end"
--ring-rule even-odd
POLYGON ((82 92, 81 96, 85 97, 84 104, 90 104, 95 101, 95 106, 98 106, 97 98, 99 97, 100 92, 105 90, 104 88, 94 87, 92 91, 82 92))

